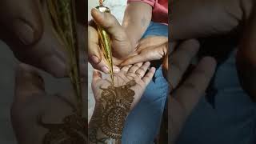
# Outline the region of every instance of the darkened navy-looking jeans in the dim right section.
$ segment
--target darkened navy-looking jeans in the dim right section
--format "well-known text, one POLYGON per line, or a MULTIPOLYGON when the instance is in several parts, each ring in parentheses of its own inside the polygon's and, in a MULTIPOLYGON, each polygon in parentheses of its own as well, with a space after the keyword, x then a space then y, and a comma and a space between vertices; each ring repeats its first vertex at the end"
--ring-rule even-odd
POLYGON ((234 51, 214 78, 215 108, 202 97, 177 144, 255 144, 256 105, 238 81, 234 51))

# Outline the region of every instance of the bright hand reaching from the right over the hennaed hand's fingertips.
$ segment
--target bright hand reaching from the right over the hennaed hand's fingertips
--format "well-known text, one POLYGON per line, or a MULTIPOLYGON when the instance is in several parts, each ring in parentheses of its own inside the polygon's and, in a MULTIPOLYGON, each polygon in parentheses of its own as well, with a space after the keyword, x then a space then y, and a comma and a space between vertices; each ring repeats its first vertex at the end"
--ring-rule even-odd
POLYGON ((162 36, 144 38, 138 42, 137 50, 134 54, 126 58, 120 66, 162 59, 167 55, 167 50, 168 38, 162 36))

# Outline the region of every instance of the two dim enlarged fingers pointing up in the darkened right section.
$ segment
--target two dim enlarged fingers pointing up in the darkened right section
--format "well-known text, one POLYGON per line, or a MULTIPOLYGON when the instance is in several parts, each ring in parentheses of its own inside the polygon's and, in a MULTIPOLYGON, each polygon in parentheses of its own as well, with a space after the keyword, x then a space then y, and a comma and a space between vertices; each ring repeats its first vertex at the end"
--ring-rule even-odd
POLYGON ((168 103, 168 121, 170 143, 174 144, 182 130, 186 118, 190 116, 194 106, 214 75, 216 62, 214 58, 202 58, 198 66, 192 71, 190 77, 182 81, 183 74, 190 65, 191 59, 197 54, 199 44, 197 41, 183 42, 173 54, 170 55, 168 80, 170 82, 170 98, 168 103))

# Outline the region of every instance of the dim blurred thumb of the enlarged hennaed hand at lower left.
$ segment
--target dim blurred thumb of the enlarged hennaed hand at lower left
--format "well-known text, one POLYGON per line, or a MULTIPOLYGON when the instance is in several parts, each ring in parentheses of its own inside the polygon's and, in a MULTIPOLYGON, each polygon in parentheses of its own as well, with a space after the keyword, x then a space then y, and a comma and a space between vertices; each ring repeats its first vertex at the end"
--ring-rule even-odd
POLYGON ((45 94, 45 86, 38 71, 29 65, 20 64, 16 70, 14 102, 24 103, 32 97, 45 94))

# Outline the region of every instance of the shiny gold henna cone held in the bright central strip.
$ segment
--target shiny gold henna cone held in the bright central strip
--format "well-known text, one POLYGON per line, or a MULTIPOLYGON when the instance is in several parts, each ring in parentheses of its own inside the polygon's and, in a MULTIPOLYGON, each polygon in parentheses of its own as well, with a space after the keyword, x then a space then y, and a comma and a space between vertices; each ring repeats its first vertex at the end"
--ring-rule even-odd
MULTIPOLYGON (((104 1, 99 1, 100 6, 97 6, 98 9, 102 13, 110 13, 110 9, 106 6, 103 6, 104 1)), ((104 58, 108 63, 110 68, 110 77, 112 80, 112 86, 114 86, 114 74, 113 74, 113 60, 112 60, 112 48, 111 48, 111 41, 110 35, 107 34, 106 30, 102 28, 102 26, 98 26, 98 35, 99 35, 99 45, 102 49, 102 53, 104 54, 104 58)))

